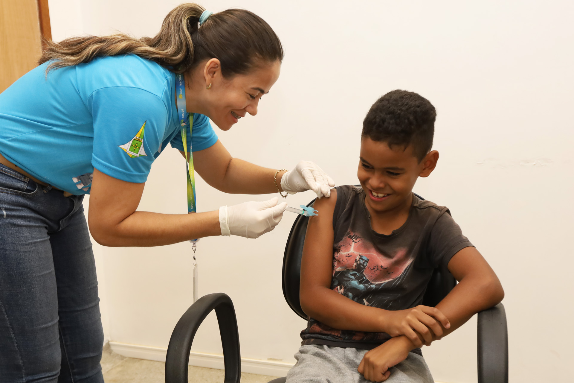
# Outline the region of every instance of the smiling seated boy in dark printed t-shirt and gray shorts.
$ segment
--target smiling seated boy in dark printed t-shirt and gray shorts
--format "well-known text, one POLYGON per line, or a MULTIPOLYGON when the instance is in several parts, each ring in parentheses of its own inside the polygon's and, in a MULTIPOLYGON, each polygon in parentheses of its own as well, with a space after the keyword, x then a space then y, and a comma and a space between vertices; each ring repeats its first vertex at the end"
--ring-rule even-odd
POLYGON ((448 208, 412 189, 435 169, 436 111, 395 90, 363 121, 357 176, 318 199, 301 262, 301 307, 309 315, 287 383, 433 382, 418 347, 499 303, 496 274, 448 208), (421 305, 433 269, 459 284, 436 308, 421 305))

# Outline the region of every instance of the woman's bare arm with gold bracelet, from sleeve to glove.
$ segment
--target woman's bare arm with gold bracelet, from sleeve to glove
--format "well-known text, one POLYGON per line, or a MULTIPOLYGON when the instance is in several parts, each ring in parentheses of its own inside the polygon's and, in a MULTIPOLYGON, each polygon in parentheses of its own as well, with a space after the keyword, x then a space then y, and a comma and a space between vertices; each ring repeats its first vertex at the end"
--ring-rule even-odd
MULTIPOLYGON (((181 154, 185 157, 183 152, 181 154)), ((263 168, 233 158, 219 140, 210 148, 193 153, 193 167, 205 182, 222 192, 230 194, 277 192, 273 179, 277 169, 263 168)), ((277 186, 280 191, 283 191, 281 177, 284 173, 277 174, 277 186)))

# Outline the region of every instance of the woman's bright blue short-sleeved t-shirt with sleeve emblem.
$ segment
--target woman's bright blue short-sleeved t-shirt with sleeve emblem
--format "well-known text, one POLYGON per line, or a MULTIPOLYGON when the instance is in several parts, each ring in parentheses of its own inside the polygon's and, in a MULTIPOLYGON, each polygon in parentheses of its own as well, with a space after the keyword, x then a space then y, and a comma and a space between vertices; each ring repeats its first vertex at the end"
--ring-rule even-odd
MULTIPOLYGON (((89 194, 94 168, 142 183, 168 142, 183 150, 173 72, 135 55, 98 57, 46 78, 47 65, 0 94, 0 153, 30 175, 89 194)), ((194 152, 218 140, 201 114, 193 114, 191 137, 194 152)))

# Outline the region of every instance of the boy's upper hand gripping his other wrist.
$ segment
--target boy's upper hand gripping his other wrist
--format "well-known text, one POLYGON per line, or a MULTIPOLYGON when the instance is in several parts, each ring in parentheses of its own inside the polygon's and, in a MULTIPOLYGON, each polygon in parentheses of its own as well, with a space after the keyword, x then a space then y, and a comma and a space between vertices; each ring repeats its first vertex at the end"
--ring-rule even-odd
POLYGON ((430 342, 440 339, 443 336, 441 324, 444 328, 451 327, 439 309, 423 305, 407 310, 387 311, 383 320, 383 331, 393 337, 405 335, 417 347, 423 344, 430 346, 430 342))

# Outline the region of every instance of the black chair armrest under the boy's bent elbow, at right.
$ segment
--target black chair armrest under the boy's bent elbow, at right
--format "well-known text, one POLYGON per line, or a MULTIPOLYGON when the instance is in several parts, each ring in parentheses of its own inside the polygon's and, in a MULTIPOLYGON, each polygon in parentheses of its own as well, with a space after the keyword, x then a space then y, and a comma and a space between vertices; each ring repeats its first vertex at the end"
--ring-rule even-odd
POLYGON ((478 383, 508 383, 508 331, 502 303, 478 313, 478 383))

